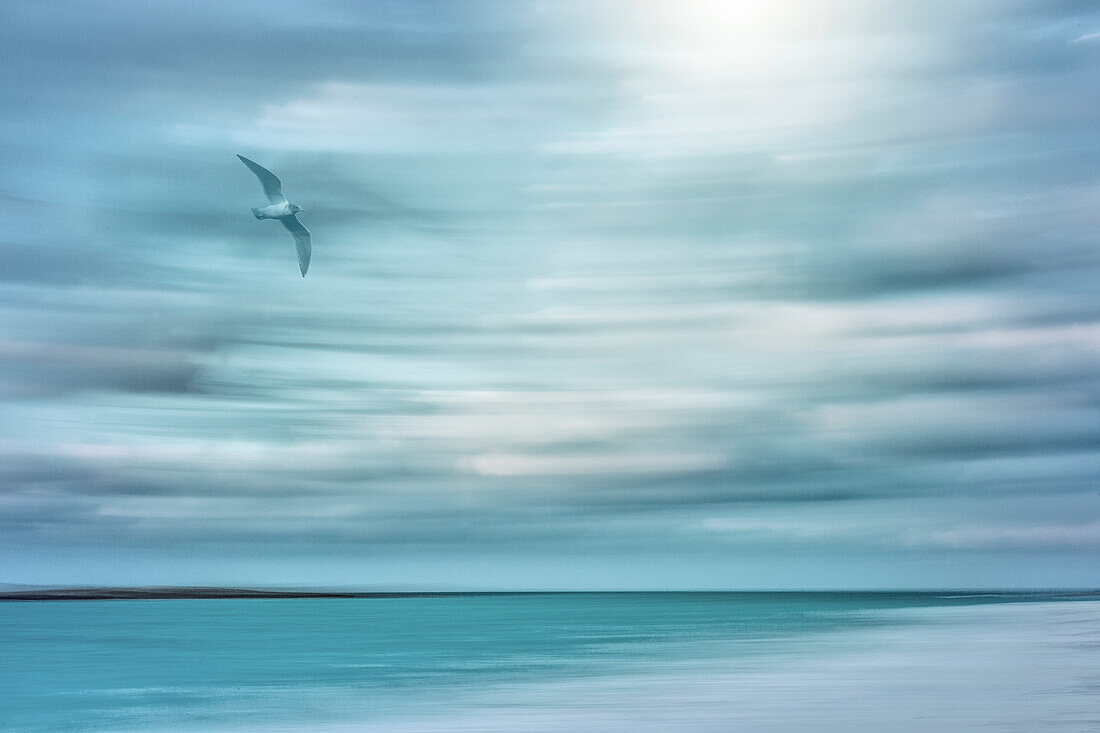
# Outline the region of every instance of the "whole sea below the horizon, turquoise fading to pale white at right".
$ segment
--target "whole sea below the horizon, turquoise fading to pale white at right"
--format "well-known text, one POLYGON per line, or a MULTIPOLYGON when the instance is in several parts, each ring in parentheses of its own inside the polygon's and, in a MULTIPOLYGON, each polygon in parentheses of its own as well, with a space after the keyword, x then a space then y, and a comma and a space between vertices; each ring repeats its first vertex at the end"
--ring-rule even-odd
POLYGON ((1100 600, 0 603, 13 731, 1097 731, 1100 600))

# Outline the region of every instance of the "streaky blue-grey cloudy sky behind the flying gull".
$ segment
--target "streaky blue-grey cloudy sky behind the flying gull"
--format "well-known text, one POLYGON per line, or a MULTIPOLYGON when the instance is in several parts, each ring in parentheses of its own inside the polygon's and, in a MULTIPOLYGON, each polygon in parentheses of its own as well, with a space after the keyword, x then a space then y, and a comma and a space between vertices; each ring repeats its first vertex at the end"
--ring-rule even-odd
POLYGON ((1094 3, 14 0, 0 69, 0 582, 1100 586, 1094 3))

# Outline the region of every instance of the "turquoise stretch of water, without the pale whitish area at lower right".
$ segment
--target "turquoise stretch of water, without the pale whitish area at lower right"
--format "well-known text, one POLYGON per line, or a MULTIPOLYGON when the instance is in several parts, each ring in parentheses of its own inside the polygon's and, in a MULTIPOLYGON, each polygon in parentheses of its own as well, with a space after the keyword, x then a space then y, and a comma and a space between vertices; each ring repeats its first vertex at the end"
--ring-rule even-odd
POLYGON ((721 711, 745 680, 857 664, 889 646, 891 632, 965 641, 977 638, 968 623, 997 627, 967 622, 976 613, 1000 614, 1011 641, 1020 622, 1004 619, 1052 605, 1098 604, 944 593, 0 603, 0 726, 504 730, 529 715, 540 730, 585 720, 613 729, 678 689, 648 720, 726 730, 721 711), (741 682, 715 691, 721 700, 703 691, 730 675, 741 682), (572 702, 601 686, 614 691, 583 709, 572 702))

